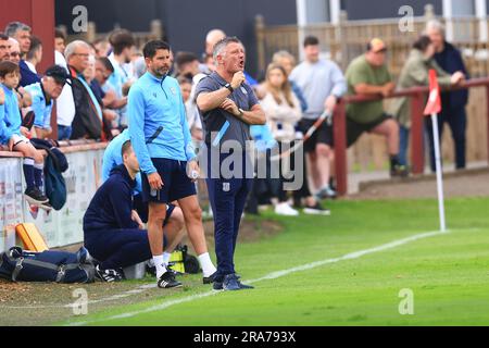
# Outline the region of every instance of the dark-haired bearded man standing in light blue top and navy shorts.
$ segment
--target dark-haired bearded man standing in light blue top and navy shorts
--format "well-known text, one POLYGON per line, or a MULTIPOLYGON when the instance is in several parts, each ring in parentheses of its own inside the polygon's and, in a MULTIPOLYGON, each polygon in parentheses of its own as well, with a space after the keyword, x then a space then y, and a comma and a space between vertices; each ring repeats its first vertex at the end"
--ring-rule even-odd
POLYGON ((171 67, 170 46, 161 40, 143 48, 147 73, 133 85, 128 97, 130 140, 142 173, 142 198, 149 202, 148 235, 156 266, 158 286, 178 287, 174 274, 163 261, 163 221, 166 203, 178 201, 185 223, 205 278, 215 266, 203 236, 202 211, 193 182, 199 165, 185 114, 180 88, 167 76, 171 67))

